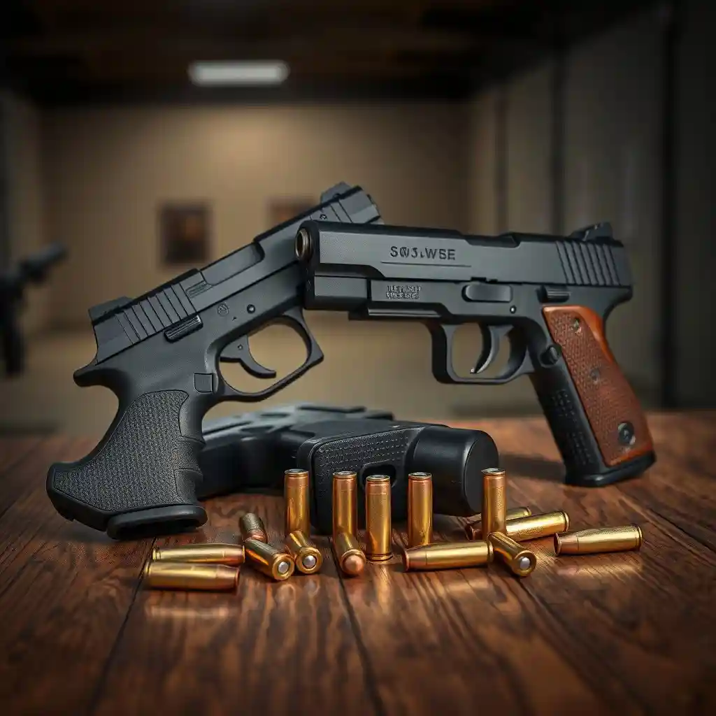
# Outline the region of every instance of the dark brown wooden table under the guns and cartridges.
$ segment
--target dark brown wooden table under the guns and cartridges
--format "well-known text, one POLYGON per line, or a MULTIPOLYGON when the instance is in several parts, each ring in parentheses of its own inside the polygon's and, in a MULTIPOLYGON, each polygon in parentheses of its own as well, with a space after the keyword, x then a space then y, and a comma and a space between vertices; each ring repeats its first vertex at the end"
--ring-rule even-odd
MULTIPOLYGON (((511 505, 566 510, 574 528, 638 523, 640 552, 556 558, 545 539, 526 579, 499 564, 405 574, 397 558, 344 579, 321 542, 321 574, 276 584, 244 567, 238 594, 142 589, 151 540, 54 512, 49 463, 93 442, 0 441, 1 712, 716 713, 716 413, 650 422, 657 465, 591 490, 561 484, 543 420, 475 424, 511 505)), ((205 528, 158 542, 236 538, 247 509, 277 540, 281 502, 211 500, 205 528)), ((457 519, 436 526, 462 537, 457 519)))

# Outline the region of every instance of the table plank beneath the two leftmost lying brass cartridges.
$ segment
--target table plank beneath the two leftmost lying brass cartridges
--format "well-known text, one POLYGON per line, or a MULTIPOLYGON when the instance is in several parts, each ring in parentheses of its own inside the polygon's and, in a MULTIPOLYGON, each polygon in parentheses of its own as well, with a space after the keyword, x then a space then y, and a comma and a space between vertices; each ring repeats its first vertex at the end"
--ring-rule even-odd
MULTIPOLYGON (((283 500, 233 495, 207 503, 198 533, 236 539, 241 511, 280 543, 283 500)), ((276 583, 247 566, 237 594, 141 589, 97 693, 97 714, 377 713, 326 541, 320 574, 276 583)))

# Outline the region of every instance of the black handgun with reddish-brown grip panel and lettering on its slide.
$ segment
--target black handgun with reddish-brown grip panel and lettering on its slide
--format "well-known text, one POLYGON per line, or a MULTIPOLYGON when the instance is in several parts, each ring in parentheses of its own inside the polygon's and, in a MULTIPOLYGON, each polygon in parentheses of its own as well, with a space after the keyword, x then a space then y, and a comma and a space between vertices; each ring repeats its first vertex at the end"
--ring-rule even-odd
POLYGON ((632 297, 627 251, 601 223, 570 236, 466 236, 403 226, 307 221, 296 235, 304 306, 351 319, 422 321, 443 383, 503 384, 529 374, 574 485, 639 475, 655 460, 647 420, 604 332, 632 297), (483 347, 471 374, 453 365, 460 324, 483 347), (508 339, 508 362, 480 375, 508 339))

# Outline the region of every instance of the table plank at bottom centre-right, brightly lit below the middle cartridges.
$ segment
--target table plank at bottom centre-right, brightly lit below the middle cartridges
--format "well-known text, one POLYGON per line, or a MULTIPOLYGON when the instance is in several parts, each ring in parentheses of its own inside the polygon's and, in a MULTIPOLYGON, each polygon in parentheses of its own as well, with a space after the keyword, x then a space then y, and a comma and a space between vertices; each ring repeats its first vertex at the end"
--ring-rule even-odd
MULTIPOLYGON (((405 543, 405 532, 394 539, 405 543)), ((385 714, 609 710, 569 652, 546 638, 543 609, 500 570, 406 574, 394 557, 343 585, 385 714)))

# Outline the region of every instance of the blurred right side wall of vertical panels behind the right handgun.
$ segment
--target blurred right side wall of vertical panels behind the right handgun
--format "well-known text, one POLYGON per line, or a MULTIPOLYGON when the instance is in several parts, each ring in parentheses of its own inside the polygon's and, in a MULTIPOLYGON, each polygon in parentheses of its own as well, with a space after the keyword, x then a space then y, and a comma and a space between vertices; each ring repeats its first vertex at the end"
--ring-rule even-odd
POLYGON ((607 337, 647 400, 657 397, 661 378, 661 38, 659 16, 649 11, 567 54, 561 217, 553 216, 556 61, 488 89, 470 105, 471 231, 500 231, 500 202, 505 229, 513 231, 569 233, 610 221, 629 248, 634 299, 615 309, 607 337))

